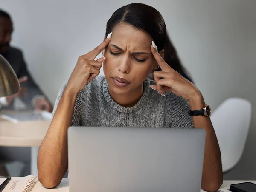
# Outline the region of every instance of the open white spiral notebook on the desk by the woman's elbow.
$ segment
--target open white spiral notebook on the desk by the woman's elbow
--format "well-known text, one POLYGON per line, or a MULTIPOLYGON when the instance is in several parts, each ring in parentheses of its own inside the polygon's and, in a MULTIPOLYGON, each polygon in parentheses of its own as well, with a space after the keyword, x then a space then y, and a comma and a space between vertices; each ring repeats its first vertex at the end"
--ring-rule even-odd
POLYGON ((37 181, 35 175, 12 177, 11 181, 3 189, 3 192, 32 192, 37 181))

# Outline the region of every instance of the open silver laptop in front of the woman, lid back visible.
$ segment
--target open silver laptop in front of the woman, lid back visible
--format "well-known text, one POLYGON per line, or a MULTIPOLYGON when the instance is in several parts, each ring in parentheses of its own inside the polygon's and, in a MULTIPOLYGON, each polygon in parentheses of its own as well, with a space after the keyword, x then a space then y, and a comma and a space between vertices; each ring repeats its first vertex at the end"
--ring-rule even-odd
POLYGON ((70 127, 70 192, 200 192, 205 130, 70 127))

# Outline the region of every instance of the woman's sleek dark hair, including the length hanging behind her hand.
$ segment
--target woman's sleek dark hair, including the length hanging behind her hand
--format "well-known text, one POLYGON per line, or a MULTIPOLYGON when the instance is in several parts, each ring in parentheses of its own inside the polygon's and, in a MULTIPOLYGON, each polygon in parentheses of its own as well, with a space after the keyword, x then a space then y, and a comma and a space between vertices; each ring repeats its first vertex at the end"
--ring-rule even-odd
POLYGON ((130 24, 138 30, 149 34, 157 45, 158 50, 164 49, 166 63, 181 75, 184 74, 186 76, 186 71, 181 65, 177 51, 166 34, 166 24, 159 11, 143 3, 131 3, 123 6, 117 9, 108 20, 105 37, 120 23, 130 24))

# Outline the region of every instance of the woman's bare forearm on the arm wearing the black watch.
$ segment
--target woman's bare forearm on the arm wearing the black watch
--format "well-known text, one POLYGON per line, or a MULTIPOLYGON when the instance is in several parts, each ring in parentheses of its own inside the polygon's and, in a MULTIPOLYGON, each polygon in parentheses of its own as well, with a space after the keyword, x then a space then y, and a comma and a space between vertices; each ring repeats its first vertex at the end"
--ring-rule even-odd
MULTIPOLYGON (((198 110, 204 107, 205 102, 200 94, 195 99, 189 101, 189 105, 191 110, 198 110)), ((206 191, 217 191, 223 182, 223 173, 221 152, 212 122, 206 116, 193 116, 193 123, 195 128, 204 128, 206 131, 201 188, 206 191)))

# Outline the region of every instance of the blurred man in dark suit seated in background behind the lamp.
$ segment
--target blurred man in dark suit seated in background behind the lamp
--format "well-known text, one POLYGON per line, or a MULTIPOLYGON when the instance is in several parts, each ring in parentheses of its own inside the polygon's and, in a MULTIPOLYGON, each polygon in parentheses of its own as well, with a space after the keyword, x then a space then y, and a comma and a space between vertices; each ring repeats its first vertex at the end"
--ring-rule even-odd
POLYGON ((0 54, 11 64, 20 85, 21 91, 15 96, 1 97, 0 108, 15 109, 15 98, 20 98, 26 109, 46 110, 52 112, 52 104, 44 96, 27 71, 22 52, 9 45, 13 32, 12 20, 8 13, 0 10, 0 54))

